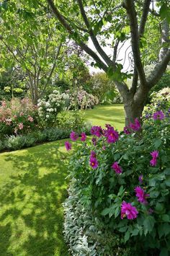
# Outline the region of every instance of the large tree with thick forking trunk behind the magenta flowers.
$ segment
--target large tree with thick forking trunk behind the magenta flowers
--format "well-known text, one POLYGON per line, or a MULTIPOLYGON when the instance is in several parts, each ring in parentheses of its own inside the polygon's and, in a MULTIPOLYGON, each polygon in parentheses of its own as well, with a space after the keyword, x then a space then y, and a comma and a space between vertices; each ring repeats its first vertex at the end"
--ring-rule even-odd
POLYGON ((69 4, 62 0, 57 2, 47 0, 47 2, 70 37, 76 40, 80 47, 94 58, 97 66, 115 81, 124 101, 126 124, 133 122, 135 118, 140 118, 149 90, 161 79, 170 61, 170 3, 164 0, 109 2, 76 0, 69 4), (154 5, 151 5, 152 3, 158 6, 158 12, 154 5), (153 16, 161 23, 159 35, 161 50, 158 63, 150 76, 146 77, 142 48, 146 47, 148 43, 145 33, 146 24, 153 16), (89 37, 97 53, 89 48, 89 37), (117 61, 118 45, 120 42, 125 43, 126 40, 130 40, 133 59, 133 82, 130 89, 125 82, 130 75, 122 72, 122 65, 117 61), (107 42, 111 46, 112 56, 109 56, 104 50, 104 46, 108 45, 107 42))

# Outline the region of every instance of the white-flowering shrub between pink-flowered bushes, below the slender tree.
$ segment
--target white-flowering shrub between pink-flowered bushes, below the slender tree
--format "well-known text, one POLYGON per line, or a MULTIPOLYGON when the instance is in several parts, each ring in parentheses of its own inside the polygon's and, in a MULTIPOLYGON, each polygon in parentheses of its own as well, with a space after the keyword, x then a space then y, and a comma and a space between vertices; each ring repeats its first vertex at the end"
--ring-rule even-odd
POLYGON ((62 110, 66 110, 68 102, 68 94, 54 90, 53 93, 48 96, 48 100, 38 100, 37 106, 40 119, 48 123, 48 126, 55 126, 58 113, 62 110))

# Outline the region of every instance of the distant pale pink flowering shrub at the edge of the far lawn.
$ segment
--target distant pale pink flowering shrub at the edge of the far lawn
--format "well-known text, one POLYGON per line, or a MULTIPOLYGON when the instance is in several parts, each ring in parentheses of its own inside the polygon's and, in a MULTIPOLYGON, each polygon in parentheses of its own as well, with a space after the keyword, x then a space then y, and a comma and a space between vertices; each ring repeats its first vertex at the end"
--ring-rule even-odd
POLYGON ((70 90, 66 91, 70 97, 70 109, 79 108, 81 110, 86 110, 87 108, 92 108, 94 105, 99 104, 99 100, 96 96, 87 93, 83 89, 79 89, 77 92, 72 92, 70 90))

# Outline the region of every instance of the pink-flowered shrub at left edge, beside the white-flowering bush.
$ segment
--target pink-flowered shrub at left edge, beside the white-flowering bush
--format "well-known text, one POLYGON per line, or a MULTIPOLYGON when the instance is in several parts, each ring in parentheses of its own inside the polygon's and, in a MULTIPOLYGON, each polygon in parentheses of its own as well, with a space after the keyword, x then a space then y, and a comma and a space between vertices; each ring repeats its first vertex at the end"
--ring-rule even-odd
POLYGON ((10 102, 1 102, 0 131, 1 137, 19 135, 38 128, 37 107, 30 99, 12 99, 10 102))

